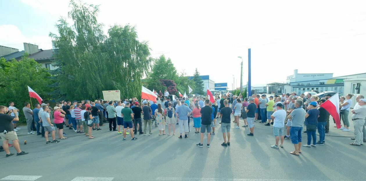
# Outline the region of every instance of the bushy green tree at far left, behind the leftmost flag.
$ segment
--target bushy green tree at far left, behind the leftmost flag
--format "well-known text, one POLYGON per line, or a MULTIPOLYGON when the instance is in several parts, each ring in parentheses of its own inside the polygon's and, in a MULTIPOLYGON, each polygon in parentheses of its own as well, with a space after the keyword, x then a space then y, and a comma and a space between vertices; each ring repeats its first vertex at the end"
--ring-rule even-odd
MULTIPOLYGON (((25 102, 30 102, 27 86, 30 86, 43 100, 51 99, 53 91, 49 85, 53 83, 51 74, 41 64, 28 58, 26 53, 21 60, 12 59, 6 61, 0 59, 0 105, 8 106, 9 101, 14 102, 15 107, 22 110, 25 102)), ((36 99, 31 98, 32 104, 37 104, 36 99)), ((25 122, 23 111, 19 111, 20 122, 25 122)))

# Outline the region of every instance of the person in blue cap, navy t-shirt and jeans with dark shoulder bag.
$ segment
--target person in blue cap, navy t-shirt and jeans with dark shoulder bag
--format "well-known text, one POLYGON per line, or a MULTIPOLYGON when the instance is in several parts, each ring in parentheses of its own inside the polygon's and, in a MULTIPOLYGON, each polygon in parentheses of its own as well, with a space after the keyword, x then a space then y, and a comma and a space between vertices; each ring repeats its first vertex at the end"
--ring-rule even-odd
POLYGON ((310 102, 308 105, 309 110, 305 114, 305 122, 306 122, 306 134, 307 134, 307 144, 302 145, 303 147, 317 147, 317 125, 318 125, 318 117, 319 110, 317 109, 317 102, 310 102), (311 137, 313 137, 313 144, 311 143, 311 137))

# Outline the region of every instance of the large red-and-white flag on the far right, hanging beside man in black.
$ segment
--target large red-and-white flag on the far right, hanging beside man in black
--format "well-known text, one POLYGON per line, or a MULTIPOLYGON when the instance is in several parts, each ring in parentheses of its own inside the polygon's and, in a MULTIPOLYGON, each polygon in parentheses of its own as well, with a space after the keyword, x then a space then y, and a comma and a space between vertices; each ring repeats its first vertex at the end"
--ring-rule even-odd
POLYGON ((341 128, 341 123, 339 119, 339 95, 336 93, 334 96, 330 97, 326 100, 320 107, 324 108, 326 111, 332 115, 333 119, 336 122, 337 129, 341 128))

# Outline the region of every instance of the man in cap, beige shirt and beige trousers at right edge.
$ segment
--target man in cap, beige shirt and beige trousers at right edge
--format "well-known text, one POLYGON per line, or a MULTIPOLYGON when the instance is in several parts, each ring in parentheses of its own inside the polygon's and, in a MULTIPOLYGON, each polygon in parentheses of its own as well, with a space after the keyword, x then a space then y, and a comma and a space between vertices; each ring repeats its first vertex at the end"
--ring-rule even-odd
POLYGON ((362 98, 358 101, 358 108, 354 108, 352 112, 352 121, 355 128, 355 141, 350 145, 360 146, 363 145, 362 126, 365 124, 366 117, 366 99, 362 98))

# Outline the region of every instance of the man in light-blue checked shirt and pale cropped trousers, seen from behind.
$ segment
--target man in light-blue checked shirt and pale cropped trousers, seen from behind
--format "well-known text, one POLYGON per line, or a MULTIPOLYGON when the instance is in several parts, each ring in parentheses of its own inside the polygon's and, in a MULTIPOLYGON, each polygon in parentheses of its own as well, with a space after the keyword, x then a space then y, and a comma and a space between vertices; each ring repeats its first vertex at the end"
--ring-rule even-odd
POLYGON ((179 134, 178 138, 182 139, 182 134, 184 132, 184 138, 188 138, 187 134, 189 132, 188 128, 188 116, 191 115, 192 110, 184 105, 184 100, 181 100, 182 106, 179 106, 175 112, 176 117, 179 119, 179 134))

